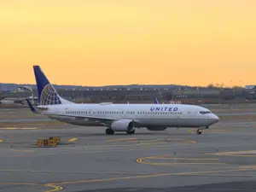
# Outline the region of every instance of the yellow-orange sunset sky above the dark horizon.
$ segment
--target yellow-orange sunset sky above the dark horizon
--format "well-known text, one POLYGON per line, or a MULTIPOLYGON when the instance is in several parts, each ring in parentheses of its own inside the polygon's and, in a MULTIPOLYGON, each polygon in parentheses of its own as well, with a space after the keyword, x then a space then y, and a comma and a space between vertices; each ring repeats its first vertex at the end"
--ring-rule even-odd
POLYGON ((256 84, 255 0, 8 0, 0 83, 256 84))

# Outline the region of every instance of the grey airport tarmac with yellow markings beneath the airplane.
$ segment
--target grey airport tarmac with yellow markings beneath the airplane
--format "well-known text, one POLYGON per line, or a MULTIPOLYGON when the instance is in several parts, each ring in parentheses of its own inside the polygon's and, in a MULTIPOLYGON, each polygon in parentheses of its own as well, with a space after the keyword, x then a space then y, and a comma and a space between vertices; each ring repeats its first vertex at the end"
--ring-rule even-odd
POLYGON ((0 108, 0 191, 256 191, 256 108, 212 108, 229 118, 201 135, 170 128, 109 136, 104 127, 0 108), (49 137, 60 145, 37 146, 49 137))

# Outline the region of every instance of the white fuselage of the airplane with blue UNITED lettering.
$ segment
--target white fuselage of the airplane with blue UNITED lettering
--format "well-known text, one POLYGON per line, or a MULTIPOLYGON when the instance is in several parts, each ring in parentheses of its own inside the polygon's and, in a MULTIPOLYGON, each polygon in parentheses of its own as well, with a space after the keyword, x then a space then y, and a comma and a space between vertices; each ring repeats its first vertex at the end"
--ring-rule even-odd
MULTIPOLYGON (((40 107, 40 106, 38 106, 40 107)), ((184 104, 61 104, 41 113, 73 125, 105 125, 99 119, 131 119, 137 127, 201 127, 218 121, 207 108, 184 104)))

